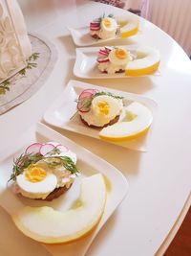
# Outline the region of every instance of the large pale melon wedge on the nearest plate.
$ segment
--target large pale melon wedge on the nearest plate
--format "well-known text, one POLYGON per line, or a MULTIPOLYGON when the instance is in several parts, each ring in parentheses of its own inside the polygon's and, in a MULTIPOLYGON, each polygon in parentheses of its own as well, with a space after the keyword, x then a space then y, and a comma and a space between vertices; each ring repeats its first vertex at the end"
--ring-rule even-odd
POLYGON ((67 243, 90 232, 101 219, 106 186, 101 174, 82 179, 78 203, 68 211, 26 206, 12 220, 26 236, 46 244, 67 243))

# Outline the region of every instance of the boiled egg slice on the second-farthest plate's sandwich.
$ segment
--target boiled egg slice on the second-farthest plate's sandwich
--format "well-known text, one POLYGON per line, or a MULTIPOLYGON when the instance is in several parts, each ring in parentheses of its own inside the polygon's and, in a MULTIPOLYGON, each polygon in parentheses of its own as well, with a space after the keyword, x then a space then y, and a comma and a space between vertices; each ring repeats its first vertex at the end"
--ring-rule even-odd
POLYGON ((109 54, 109 60, 115 65, 126 65, 130 60, 130 55, 124 48, 115 48, 109 54))

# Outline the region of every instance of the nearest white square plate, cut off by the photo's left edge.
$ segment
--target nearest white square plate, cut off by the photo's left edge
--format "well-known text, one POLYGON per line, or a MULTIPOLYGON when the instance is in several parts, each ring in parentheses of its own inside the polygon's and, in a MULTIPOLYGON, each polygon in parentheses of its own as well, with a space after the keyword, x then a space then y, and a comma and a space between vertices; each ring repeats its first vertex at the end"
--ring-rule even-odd
MULTIPOLYGON (((13 214, 15 209, 26 205, 28 201, 18 198, 12 193, 11 189, 7 187, 7 181, 11 175, 13 158, 18 157, 32 142, 48 141, 59 142, 67 146, 71 151, 74 151, 77 155, 77 168, 82 175, 89 176, 102 173, 107 177, 110 183, 104 214, 93 233, 70 244, 45 244, 47 250, 54 256, 74 256, 76 255, 76 251, 77 256, 82 256, 86 253, 100 228, 114 213, 118 204, 126 196, 128 183, 126 178, 115 167, 102 160, 91 151, 85 150, 70 139, 55 132, 52 128, 48 128, 43 124, 37 124, 11 141, 11 147, 8 147, 7 150, 4 149, 0 151, 0 204, 10 215, 13 214)), ((57 199, 53 201, 55 202, 57 199)))

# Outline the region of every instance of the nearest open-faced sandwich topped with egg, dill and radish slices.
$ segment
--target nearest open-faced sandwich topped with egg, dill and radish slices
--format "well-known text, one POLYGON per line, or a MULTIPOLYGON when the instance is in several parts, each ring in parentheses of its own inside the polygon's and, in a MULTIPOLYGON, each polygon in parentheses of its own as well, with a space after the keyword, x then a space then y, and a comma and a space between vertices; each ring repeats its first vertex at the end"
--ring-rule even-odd
POLYGON ((75 164, 76 154, 59 143, 33 143, 14 161, 14 191, 26 198, 58 198, 73 184, 75 164))

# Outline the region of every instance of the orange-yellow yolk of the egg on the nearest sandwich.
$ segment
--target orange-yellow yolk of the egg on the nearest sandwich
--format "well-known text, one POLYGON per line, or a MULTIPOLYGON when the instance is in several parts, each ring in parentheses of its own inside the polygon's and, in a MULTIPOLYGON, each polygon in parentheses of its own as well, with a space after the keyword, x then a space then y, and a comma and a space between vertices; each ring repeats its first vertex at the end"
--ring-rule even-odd
POLYGON ((25 176, 27 180, 31 182, 39 182, 46 177, 46 171, 39 166, 31 166, 26 172, 25 176))

